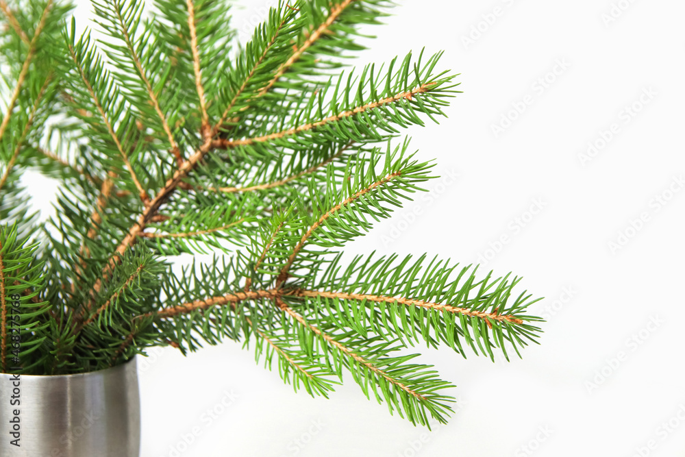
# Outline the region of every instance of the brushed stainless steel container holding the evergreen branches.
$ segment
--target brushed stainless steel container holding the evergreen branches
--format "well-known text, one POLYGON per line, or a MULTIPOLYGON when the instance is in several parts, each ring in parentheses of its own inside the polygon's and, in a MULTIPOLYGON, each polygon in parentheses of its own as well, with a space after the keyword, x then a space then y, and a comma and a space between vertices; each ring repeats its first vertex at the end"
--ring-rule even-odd
POLYGON ((21 375, 16 380, 0 373, 0 456, 139 454, 135 357, 117 367, 77 375, 21 375), (19 446, 12 444, 15 437, 19 446))

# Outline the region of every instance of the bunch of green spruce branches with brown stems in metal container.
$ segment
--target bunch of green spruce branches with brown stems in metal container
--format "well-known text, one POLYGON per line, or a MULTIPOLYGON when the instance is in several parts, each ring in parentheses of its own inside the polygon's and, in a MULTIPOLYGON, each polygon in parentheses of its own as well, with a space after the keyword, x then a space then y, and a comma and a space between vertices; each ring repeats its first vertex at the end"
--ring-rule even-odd
POLYGON ((444 115, 454 75, 423 52, 341 69, 387 0, 279 3, 245 46, 228 3, 143 16, 142 0, 93 0, 96 44, 67 3, 1 1, 1 370, 85 373, 230 338, 296 391, 327 396, 347 369, 390 412, 445 421, 451 384, 401 349, 508 358, 536 341, 535 300, 510 275, 341 248, 433 177, 396 138, 444 115), (29 168, 62 184, 40 223, 29 168))

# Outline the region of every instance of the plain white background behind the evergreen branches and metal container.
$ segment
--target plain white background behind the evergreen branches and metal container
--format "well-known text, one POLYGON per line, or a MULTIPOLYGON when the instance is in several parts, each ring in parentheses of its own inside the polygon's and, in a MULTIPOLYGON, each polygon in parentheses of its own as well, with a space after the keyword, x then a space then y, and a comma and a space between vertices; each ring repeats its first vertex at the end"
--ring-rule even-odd
MULTIPOLYGON (((242 38, 273 3, 242 2, 242 38)), ((359 64, 444 49, 464 93, 407 132, 437 159, 429 197, 347 251, 523 275, 541 344, 510 363, 426 352, 459 399, 432 432, 349 377, 312 399, 236 343, 159 349, 139 360, 142 456, 685 456, 685 3, 400 3, 359 64)))

